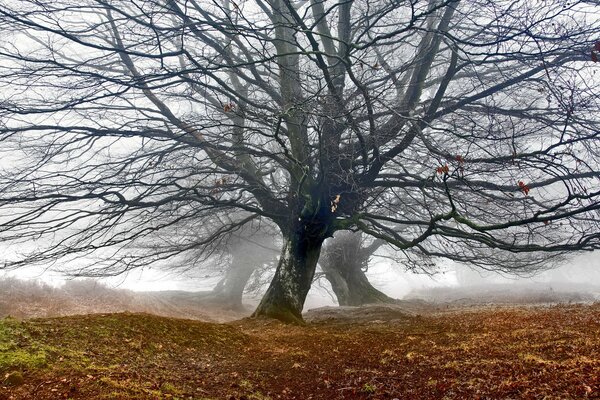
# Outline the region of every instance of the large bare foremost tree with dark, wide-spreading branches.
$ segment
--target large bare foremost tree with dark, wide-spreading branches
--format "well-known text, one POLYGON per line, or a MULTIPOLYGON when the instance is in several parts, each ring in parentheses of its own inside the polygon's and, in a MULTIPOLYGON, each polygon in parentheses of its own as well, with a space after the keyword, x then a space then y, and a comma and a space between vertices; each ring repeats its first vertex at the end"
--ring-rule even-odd
POLYGON ((5 266, 118 273, 242 210, 284 237, 255 315, 299 322, 338 230, 484 268, 596 249, 599 21, 583 0, 2 3, 5 266))

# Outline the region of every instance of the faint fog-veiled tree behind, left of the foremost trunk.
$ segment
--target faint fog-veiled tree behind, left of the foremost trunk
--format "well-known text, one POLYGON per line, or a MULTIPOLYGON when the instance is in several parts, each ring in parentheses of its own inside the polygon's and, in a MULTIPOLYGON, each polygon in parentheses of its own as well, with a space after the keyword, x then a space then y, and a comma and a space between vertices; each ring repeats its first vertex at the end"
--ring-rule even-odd
MULTIPOLYGON (((212 290, 195 292, 204 302, 232 310, 243 310, 242 296, 253 273, 264 275, 273 269, 281 248, 281 234, 276 226, 244 211, 211 213, 191 221, 162 227, 158 232, 137 240, 144 254, 168 255, 169 264, 162 270, 175 274, 215 278, 212 290), (177 262, 172 258, 177 257, 177 262)), ((90 267, 66 269, 65 275, 85 275, 90 267)), ((96 271, 103 276, 104 271, 96 271)), ((260 279, 259 279, 260 280, 260 279)), ((260 287, 253 287, 253 292, 260 287)))

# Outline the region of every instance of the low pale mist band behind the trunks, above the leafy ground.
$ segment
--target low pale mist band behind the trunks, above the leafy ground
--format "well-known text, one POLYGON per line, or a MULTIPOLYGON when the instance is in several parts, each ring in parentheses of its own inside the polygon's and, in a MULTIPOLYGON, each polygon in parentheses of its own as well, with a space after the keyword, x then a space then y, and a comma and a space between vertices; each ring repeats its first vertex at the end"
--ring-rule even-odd
MULTIPOLYGON (((260 252, 261 249, 253 251, 260 252)), ((253 258, 260 256, 254 255, 253 258)), ((0 317, 11 315, 30 318, 121 311, 151 312, 210 321, 247 316, 264 294, 272 277, 272 268, 266 272, 263 269, 258 274, 260 276, 250 279, 254 283, 246 287, 243 307, 237 309, 219 304, 218 301, 207 301, 205 297, 218 285, 226 268, 212 266, 185 271, 144 268, 101 278, 69 278, 51 268, 41 267, 2 271, 0 317), (17 298, 20 300, 17 301, 17 298)), ((576 255, 556 268, 527 276, 485 271, 450 262, 438 266, 432 273, 414 273, 390 262, 387 257, 376 255, 366 275, 374 287, 393 299, 425 301, 441 308, 453 305, 589 303, 600 300, 598 252, 576 255)), ((324 276, 317 275, 304 311, 337 305, 331 284, 324 276)))

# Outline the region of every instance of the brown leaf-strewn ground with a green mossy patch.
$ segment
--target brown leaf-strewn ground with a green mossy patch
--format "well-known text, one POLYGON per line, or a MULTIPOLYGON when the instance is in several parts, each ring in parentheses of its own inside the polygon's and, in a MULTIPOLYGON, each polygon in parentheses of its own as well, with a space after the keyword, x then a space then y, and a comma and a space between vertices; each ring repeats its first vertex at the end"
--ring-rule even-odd
POLYGON ((599 303, 409 308, 313 311, 306 326, 6 318, 0 398, 600 398, 599 303))

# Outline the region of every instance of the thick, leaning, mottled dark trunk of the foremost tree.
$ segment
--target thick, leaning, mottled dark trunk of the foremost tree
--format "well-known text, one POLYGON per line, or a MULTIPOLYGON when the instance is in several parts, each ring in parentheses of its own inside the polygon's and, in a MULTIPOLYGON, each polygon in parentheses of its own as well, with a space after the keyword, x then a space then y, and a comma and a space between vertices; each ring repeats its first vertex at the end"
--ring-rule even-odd
POLYGON ((283 245, 279 264, 269 289, 252 316, 266 316, 304 324, 302 308, 310 290, 323 240, 298 229, 283 245))

